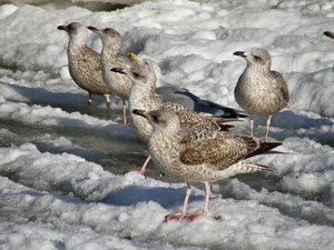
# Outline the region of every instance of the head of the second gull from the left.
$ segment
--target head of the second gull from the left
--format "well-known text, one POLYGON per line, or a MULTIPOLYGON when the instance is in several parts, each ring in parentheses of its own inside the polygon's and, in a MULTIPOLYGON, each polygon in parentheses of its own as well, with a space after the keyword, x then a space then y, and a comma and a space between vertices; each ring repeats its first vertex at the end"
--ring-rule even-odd
POLYGON ((92 32, 97 33, 104 43, 104 47, 117 48, 120 50, 121 48, 121 36, 117 32, 117 30, 111 28, 98 29, 96 27, 89 26, 87 27, 92 32))

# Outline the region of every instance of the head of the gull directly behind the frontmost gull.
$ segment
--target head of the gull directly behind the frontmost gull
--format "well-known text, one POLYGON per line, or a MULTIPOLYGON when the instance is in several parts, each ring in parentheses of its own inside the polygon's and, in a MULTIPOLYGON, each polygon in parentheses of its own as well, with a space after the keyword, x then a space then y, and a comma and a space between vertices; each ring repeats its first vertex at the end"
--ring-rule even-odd
POLYGON ((157 76, 155 73, 155 67, 153 62, 148 60, 134 61, 130 69, 112 68, 110 71, 129 76, 134 84, 156 88, 157 76))

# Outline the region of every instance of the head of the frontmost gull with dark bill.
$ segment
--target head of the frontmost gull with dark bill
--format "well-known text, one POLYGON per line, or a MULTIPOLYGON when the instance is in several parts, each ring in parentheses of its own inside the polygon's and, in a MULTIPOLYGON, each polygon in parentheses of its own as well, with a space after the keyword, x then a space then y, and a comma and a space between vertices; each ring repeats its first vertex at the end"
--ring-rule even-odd
POLYGON ((145 111, 134 109, 132 113, 146 118, 155 129, 179 128, 178 117, 169 110, 157 109, 151 111, 145 111))

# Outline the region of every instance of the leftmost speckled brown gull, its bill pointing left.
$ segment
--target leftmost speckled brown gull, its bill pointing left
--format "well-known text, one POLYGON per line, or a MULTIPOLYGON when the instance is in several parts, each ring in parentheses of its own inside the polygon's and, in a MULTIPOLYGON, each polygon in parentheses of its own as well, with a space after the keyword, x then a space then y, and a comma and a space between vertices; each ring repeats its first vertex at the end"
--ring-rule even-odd
POLYGON ((100 54, 87 46, 87 28, 78 22, 68 26, 58 26, 69 36, 67 48, 68 67, 75 82, 89 94, 88 104, 91 104, 92 94, 104 94, 107 103, 107 118, 110 117, 110 94, 112 91, 102 80, 100 54))

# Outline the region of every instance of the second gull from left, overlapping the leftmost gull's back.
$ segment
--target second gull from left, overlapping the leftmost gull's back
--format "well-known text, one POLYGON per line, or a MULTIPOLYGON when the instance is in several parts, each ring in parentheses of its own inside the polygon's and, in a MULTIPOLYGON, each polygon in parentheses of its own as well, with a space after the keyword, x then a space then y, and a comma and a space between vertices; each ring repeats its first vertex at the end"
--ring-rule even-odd
POLYGON ((112 93, 121 98, 124 123, 127 124, 126 100, 129 99, 132 81, 128 76, 112 72, 110 69, 122 67, 129 68, 134 61, 122 53, 121 36, 116 30, 111 28, 97 29, 95 27, 88 27, 88 29, 97 33, 102 40, 102 50, 100 54, 102 78, 112 90, 112 93))

